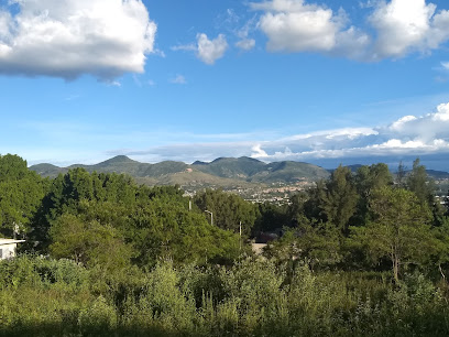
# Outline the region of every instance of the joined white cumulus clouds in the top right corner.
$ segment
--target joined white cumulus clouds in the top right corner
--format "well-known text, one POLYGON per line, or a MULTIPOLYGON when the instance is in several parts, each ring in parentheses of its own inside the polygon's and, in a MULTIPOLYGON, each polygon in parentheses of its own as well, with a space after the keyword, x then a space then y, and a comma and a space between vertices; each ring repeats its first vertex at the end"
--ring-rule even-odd
POLYGON ((305 0, 251 3, 263 11, 259 28, 269 37, 271 52, 318 52, 360 61, 429 53, 449 40, 449 11, 425 0, 370 3, 365 26, 351 25, 343 9, 332 11, 305 0))

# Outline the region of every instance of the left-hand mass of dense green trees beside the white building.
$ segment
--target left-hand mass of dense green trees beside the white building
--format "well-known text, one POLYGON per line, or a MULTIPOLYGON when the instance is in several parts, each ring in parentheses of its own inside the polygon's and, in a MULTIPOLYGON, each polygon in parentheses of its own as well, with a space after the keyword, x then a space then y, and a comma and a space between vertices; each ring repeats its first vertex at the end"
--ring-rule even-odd
POLYGON ((151 268, 166 258, 231 263, 239 256, 237 232, 189 210, 178 186, 149 188, 125 175, 83 168, 50 182, 17 156, 1 160, 1 231, 9 236, 19 224, 29 251, 106 269, 151 268))

